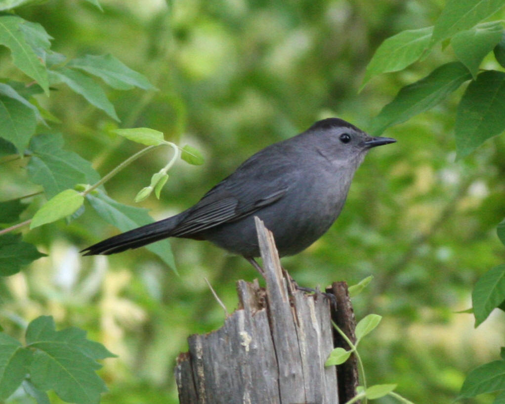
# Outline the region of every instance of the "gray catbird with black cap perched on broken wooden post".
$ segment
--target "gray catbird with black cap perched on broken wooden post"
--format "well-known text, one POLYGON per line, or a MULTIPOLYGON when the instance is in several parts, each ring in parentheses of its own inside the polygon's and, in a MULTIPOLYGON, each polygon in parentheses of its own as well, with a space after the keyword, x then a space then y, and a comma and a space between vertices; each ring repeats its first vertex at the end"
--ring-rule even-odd
POLYGON ((255 265, 260 255, 254 216, 273 232, 279 255, 309 247, 336 220, 368 150, 396 142, 372 138, 328 118, 245 160, 194 206, 83 250, 114 254, 167 237, 209 240, 255 265))

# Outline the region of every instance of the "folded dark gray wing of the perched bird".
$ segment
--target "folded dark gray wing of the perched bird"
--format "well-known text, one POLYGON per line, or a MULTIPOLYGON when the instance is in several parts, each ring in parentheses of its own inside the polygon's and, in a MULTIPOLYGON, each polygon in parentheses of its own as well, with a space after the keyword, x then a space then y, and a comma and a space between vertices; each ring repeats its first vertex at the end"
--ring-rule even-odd
POLYGON ((296 182, 292 161, 278 154, 252 156, 189 208, 171 232, 174 237, 197 233, 247 216, 281 199, 296 182), (286 175, 288 174, 288 175, 286 175))

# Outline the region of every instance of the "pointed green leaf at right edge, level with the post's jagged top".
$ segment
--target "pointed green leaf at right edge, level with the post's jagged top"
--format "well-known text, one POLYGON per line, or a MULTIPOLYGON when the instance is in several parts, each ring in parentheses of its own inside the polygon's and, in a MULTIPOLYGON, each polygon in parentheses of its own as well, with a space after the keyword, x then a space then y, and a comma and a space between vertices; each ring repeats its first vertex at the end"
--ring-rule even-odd
POLYGON ((505 300, 505 264, 495 266, 479 278, 472 292, 475 327, 505 300))

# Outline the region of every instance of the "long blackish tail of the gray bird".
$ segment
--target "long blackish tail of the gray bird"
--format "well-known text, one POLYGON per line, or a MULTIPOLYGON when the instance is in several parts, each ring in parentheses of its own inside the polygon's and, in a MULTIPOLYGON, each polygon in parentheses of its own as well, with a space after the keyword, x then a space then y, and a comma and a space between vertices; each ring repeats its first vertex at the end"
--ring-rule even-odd
POLYGON ((171 236, 173 229, 180 221, 180 217, 178 216, 168 217, 164 220, 130 230, 129 232, 118 234, 117 236, 93 244, 81 252, 84 252, 84 255, 109 255, 154 243, 171 236))

